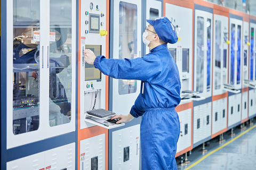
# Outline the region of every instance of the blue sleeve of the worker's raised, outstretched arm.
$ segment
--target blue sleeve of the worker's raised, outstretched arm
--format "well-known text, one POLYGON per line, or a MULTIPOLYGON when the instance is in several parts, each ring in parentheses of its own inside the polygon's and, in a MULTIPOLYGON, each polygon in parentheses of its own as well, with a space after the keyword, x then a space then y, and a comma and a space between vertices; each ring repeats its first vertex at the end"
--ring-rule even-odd
POLYGON ((115 79, 142 80, 158 75, 161 61, 155 55, 146 55, 135 59, 107 59, 105 56, 95 58, 94 67, 103 74, 115 79))

